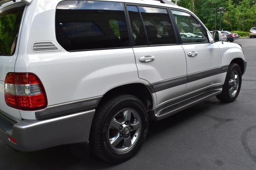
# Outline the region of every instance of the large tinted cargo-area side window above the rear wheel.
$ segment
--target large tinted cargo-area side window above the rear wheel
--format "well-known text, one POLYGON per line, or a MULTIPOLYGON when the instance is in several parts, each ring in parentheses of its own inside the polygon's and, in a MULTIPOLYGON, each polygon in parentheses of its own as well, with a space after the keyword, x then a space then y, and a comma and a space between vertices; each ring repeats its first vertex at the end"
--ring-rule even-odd
POLYGON ((62 1, 56 11, 56 38, 67 51, 128 47, 120 2, 62 1))

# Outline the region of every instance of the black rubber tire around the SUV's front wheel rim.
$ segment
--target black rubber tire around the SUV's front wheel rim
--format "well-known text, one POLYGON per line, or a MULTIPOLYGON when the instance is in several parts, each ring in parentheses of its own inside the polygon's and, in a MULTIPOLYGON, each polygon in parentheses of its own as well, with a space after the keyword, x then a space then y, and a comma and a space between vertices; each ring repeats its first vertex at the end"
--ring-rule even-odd
POLYGON ((222 88, 222 93, 219 94, 218 96, 216 96, 218 98, 218 100, 222 101, 222 102, 233 102, 234 100, 236 100, 236 98, 239 95, 240 89, 241 89, 241 85, 242 85, 242 72, 240 69, 240 66, 236 63, 232 63, 230 64, 229 68, 228 68, 228 72, 226 75, 226 80, 225 83, 223 85, 222 88), (232 72, 235 71, 238 74, 238 78, 239 78, 239 84, 238 84, 238 88, 237 91, 234 95, 230 94, 229 90, 230 90, 230 85, 229 85, 229 81, 231 80, 231 74, 232 72))

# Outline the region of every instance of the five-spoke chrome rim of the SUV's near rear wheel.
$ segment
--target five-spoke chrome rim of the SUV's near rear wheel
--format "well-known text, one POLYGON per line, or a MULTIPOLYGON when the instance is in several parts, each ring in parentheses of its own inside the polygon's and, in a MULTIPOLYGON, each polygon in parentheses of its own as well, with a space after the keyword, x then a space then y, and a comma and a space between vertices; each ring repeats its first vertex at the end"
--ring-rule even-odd
POLYGON ((108 127, 108 142, 117 152, 131 149, 138 141, 141 132, 141 120, 137 111, 126 108, 118 111, 108 127))

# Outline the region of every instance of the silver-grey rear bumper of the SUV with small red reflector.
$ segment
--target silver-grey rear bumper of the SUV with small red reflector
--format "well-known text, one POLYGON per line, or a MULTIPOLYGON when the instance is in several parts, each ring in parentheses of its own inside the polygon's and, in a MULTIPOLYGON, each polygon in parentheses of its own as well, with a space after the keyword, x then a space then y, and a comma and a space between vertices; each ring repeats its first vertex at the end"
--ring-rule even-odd
POLYGON ((0 138, 12 148, 30 152, 89 141, 95 109, 41 121, 8 121, 0 115, 0 138), (8 137, 16 140, 16 144, 8 137))

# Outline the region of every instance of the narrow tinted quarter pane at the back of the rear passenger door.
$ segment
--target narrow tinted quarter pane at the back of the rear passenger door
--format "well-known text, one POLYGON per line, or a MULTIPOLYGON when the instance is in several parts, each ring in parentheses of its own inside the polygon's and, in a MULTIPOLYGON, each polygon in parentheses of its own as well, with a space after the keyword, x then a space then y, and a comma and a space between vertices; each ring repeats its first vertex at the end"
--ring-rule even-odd
POLYGON ((143 27, 137 6, 127 6, 132 27, 133 45, 148 45, 145 29, 143 27))

